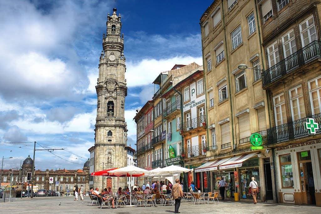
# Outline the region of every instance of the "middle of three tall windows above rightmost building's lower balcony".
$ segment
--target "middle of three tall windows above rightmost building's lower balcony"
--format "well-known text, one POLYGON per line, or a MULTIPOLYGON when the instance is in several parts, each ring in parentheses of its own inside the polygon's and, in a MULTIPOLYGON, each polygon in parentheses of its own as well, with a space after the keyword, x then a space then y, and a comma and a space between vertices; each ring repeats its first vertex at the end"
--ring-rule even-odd
POLYGON ((289 90, 292 120, 299 120, 305 117, 302 86, 299 85, 289 90))

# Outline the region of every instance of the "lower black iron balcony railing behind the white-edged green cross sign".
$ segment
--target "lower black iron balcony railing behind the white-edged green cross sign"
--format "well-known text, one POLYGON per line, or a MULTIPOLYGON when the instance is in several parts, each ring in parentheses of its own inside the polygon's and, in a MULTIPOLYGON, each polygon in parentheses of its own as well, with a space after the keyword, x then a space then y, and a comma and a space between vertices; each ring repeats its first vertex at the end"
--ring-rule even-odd
MULTIPOLYGON (((309 118, 314 118, 315 123, 321 124, 321 113, 312 115, 309 118)), ((307 117, 268 129, 266 144, 308 136, 308 130, 304 128, 304 122, 307 122, 307 117)), ((317 129, 316 133, 321 133, 321 129, 317 129)))

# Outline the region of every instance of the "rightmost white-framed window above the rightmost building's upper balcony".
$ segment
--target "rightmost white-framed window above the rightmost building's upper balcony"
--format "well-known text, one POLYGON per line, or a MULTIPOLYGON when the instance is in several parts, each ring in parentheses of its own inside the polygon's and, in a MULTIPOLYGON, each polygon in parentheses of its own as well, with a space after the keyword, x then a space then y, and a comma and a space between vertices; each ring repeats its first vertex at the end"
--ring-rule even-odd
POLYGON ((307 20, 300 24, 300 32, 303 47, 307 46, 314 40, 317 40, 317 32, 314 25, 313 16, 310 16, 307 20))

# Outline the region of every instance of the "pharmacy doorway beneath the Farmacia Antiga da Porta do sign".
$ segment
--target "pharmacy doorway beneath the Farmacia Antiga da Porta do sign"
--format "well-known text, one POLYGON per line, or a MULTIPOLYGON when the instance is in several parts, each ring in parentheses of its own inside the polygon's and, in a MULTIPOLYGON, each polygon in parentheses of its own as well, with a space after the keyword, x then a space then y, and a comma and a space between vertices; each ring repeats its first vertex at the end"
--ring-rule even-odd
POLYGON ((301 151, 298 152, 297 155, 299 160, 299 176, 301 182, 301 190, 303 193, 303 202, 307 204, 316 204, 310 151, 301 151))

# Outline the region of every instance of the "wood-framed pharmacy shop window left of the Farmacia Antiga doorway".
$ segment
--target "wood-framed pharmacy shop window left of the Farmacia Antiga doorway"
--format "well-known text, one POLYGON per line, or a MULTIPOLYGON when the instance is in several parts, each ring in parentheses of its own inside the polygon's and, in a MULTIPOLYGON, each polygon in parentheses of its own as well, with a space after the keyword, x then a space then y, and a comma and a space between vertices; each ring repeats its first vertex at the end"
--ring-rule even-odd
POLYGON ((290 154, 280 156, 280 166, 282 187, 293 188, 293 172, 290 154))

